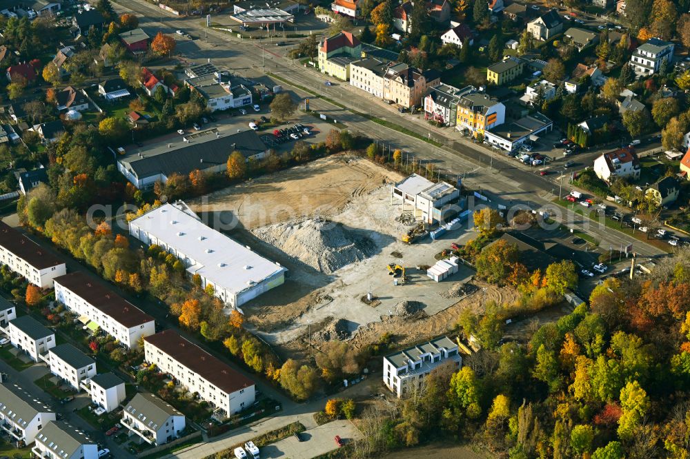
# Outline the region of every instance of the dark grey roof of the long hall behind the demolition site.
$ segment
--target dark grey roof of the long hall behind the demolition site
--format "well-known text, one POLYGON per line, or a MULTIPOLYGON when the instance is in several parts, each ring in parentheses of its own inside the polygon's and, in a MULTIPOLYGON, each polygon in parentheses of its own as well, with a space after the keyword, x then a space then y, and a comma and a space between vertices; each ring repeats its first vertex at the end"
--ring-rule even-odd
POLYGON ((119 162, 141 180, 156 174, 170 176, 173 172, 186 175, 195 169, 225 164, 230 153, 235 150, 246 157, 268 150, 253 130, 219 136, 216 135, 217 132, 214 128, 187 134, 185 139, 190 139, 189 143, 184 143, 180 139, 170 148, 167 143, 162 143, 148 150, 146 147, 132 150, 131 154, 119 162))

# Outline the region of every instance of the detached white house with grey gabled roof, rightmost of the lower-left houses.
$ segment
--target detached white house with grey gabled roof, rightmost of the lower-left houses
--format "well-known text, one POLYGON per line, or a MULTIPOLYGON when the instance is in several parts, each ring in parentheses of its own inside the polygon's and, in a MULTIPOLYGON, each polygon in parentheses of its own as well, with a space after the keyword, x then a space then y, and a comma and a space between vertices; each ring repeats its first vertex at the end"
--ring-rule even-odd
POLYGON ((184 414, 153 394, 137 394, 122 411, 122 425, 130 436, 150 445, 164 445, 178 438, 186 426, 184 414))

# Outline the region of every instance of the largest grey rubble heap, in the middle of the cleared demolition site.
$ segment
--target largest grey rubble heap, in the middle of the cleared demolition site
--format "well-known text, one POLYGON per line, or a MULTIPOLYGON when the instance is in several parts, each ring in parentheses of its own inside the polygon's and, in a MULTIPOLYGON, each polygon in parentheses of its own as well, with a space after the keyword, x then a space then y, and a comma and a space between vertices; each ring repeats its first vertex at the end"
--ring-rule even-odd
POLYGON ((376 245, 370 238, 346 230, 341 223, 322 219, 278 223, 257 228, 254 234, 325 274, 333 274, 376 253, 376 245))

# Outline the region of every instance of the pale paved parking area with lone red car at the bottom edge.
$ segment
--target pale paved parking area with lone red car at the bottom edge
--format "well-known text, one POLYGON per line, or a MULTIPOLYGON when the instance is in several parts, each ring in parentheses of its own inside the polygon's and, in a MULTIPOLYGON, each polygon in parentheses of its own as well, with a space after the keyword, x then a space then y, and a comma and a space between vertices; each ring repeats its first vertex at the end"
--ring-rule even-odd
POLYGON ((362 434, 348 420, 335 420, 300 434, 304 441, 299 442, 295 437, 288 437, 279 442, 261 448, 262 458, 315 458, 337 449, 335 436, 339 436, 345 443, 362 437, 362 434))

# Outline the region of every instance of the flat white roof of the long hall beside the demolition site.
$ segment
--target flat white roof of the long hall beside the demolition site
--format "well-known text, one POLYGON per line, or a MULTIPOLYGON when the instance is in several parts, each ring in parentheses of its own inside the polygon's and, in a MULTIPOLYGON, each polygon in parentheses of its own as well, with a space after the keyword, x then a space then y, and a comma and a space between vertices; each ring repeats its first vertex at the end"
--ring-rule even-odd
POLYGON ((235 294, 285 269, 214 230, 185 203, 166 203, 135 218, 130 225, 174 247, 195 265, 187 268, 235 294))

